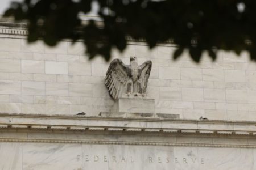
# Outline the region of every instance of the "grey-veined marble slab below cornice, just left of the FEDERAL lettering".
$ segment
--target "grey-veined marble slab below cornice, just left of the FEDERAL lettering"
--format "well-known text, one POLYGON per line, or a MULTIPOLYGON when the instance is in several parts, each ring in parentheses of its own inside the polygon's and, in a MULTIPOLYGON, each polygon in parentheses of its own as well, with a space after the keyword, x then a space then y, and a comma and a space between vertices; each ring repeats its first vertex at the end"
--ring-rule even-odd
POLYGON ((23 146, 23 170, 81 169, 81 145, 26 143, 23 146))

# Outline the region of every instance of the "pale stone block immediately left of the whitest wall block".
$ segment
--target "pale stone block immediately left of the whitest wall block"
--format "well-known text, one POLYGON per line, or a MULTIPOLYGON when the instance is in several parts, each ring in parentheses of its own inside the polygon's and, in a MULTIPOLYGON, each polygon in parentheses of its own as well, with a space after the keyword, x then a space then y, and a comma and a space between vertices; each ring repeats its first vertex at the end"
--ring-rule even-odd
POLYGON ((22 60, 22 73, 44 73, 44 61, 22 60))

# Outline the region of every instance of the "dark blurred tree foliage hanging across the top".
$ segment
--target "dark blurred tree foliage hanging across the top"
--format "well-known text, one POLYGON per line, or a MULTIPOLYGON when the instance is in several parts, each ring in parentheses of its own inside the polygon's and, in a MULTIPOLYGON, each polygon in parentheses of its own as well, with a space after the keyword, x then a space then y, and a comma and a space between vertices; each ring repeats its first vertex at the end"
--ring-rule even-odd
POLYGON ((28 20, 28 42, 42 39, 54 46, 63 39, 83 40, 90 58, 100 54, 107 61, 113 48, 126 48, 128 36, 150 48, 171 40, 179 47, 174 59, 188 49, 193 61, 204 51, 214 60, 221 49, 248 50, 256 60, 254 0, 24 0, 12 2, 4 16, 28 20), (102 27, 93 20, 82 24, 78 16, 91 11, 92 1, 98 3, 102 27))

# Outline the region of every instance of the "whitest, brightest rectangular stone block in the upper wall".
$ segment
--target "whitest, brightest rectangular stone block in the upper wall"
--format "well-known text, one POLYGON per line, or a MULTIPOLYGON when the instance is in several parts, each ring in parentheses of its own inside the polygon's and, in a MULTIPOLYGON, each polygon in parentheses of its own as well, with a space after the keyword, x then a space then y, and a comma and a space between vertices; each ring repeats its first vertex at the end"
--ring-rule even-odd
POLYGON ((46 74, 68 74, 68 63, 46 61, 46 74))

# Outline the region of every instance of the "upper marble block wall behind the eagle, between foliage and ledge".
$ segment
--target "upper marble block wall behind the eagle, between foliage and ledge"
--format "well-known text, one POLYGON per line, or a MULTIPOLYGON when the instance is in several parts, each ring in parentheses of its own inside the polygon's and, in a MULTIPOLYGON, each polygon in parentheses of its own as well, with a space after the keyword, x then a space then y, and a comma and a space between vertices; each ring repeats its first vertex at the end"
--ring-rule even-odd
MULTIPOLYGON (((88 61, 82 42, 49 48, 40 41, 28 45, 24 35, 26 29, 14 25, 0 29, 1 112, 97 116, 111 111, 114 101, 104 87, 109 62, 88 61)), ((246 52, 240 57, 219 52, 215 62, 204 54, 197 64, 186 52, 173 61, 175 49, 162 44, 149 51, 143 42, 130 41, 125 52, 113 50, 112 59, 152 61, 147 95, 155 99, 154 113, 256 121, 256 65, 246 52)))

